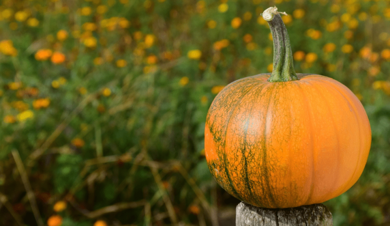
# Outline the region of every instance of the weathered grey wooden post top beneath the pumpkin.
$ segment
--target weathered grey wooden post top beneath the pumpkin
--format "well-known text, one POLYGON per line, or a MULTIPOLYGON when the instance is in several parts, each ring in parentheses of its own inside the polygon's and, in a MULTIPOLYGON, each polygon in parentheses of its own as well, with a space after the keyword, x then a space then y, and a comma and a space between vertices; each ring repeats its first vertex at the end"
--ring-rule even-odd
POLYGON ((267 209, 241 202, 236 226, 332 226, 332 213, 323 204, 286 209, 267 209))

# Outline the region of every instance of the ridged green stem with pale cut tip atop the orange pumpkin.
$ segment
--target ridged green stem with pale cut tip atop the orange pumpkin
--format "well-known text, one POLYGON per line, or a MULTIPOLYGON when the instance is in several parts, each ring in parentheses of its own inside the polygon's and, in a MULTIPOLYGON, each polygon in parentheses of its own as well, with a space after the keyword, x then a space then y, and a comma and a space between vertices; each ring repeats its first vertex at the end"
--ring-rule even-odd
POLYGON ((278 12, 278 8, 270 7, 263 12, 263 18, 270 25, 272 39, 274 41, 274 63, 269 82, 286 82, 298 80, 294 70, 293 53, 291 52, 290 40, 286 26, 278 12))

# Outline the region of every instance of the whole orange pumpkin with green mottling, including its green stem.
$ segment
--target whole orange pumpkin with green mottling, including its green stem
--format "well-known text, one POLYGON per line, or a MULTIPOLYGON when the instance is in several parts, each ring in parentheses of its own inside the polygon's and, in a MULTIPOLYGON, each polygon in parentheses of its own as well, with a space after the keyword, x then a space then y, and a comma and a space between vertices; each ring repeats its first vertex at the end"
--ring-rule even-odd
POLYGON ((215 97, 205 126, 209 170, 232 196, 258 207, 330 200, 363 172, 367 114, 340 82, 296 74, 277 8, 263 17, 274 40, 273 72, 237 80, 215 97))

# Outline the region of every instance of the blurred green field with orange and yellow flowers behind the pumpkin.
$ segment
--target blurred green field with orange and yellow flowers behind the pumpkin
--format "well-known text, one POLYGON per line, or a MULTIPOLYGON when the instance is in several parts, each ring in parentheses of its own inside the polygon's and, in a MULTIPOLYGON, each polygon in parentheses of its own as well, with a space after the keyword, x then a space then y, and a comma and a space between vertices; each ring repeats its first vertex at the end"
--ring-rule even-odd
POLYGON ((272 71, 274 5, 296 71, 347 85, 370 119, 334 224, 390 225, 390 1, 0 3, 0 225, 234 225, 205 119, 225 85, 272 71))

